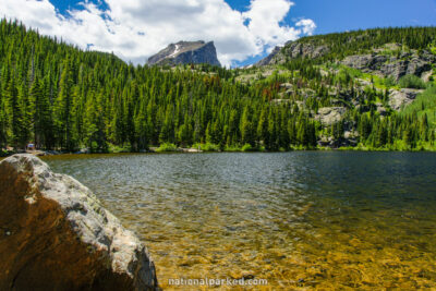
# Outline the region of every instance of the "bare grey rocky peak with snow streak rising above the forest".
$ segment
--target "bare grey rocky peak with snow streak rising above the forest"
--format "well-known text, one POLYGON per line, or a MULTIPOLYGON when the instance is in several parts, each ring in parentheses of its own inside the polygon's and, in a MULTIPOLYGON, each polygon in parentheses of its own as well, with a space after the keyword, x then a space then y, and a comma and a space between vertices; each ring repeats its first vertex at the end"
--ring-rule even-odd
POLYGON ((217 58, 214 41, 179 41, 171 44, 148 59, 149 65, 178 65, 190 63, 209 63, 221 65, 217 58))

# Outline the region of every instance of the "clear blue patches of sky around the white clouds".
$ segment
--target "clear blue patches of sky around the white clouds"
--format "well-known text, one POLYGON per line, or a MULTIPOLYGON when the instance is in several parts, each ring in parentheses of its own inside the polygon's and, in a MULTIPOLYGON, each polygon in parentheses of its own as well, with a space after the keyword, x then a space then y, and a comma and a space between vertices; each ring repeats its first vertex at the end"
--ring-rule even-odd
MULTIPOLYGON (((82 1, 50 0, 65 14, 68 9, 82 9, 82 1)), ((107 9, 105 1, 92 2, 107 9)), ((226 0, 233 9, 247 11, 250 0, 226 0)), ((436 0, 293 0, 294 5, 284 23, 300 17, 314 20, 315 34, 346 32, 386 26, 436 25, 436 0)))

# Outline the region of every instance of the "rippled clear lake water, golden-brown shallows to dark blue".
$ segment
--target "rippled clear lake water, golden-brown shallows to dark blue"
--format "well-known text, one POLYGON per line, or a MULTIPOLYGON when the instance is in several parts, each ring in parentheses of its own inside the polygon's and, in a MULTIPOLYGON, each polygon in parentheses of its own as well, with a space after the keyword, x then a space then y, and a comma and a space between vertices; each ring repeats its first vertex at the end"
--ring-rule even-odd
POLYGON ((204 277, 267 279, 269 290, 436 288, 432 153, 45 160, 142 238, 164 288, 204 277))

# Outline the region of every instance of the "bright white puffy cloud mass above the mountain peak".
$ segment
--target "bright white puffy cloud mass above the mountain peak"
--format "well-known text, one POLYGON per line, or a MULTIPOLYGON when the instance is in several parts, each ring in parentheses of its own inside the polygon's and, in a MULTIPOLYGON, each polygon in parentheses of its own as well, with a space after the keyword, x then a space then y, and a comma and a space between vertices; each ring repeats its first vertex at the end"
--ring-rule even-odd
POLYGON ((270 50, 316 28, 312 20, 295 27, 280 24, 289 0, 251 0, 249 11, 232 10, 225 0, 106 0, 102 11, 87 0, 83 10, 60 15, 48 0, 1 0, 0 16, 17 19, 44 35, 86 48, 113 51, 133 63, 179 40, 214 40, 225 65, 270 50), (244 25, 244 23, 249 23, 244 25))

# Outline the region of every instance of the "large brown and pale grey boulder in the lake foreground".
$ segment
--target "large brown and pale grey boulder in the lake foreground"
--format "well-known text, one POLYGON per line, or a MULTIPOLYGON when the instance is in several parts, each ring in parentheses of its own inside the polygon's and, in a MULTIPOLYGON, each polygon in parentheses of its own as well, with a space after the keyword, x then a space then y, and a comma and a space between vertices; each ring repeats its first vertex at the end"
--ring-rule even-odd
POLYGON ((0 162, 0 290, 156 290, 146 247, 32 155, 0 162))

